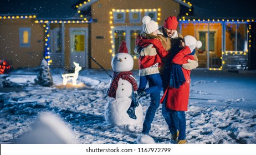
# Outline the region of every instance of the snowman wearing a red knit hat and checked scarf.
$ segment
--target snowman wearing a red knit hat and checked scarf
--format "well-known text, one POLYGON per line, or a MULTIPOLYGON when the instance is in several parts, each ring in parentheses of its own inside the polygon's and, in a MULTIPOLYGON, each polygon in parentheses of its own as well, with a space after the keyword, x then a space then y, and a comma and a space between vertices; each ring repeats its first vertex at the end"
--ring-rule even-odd
POLYGON ((137 82, 132 76, 134 60, 128 54, 126 43, 122 41, 118 53, 112 58, 112 70, 114 71, 110 80, 110 87, 107 91, 109 97, 114 100, 108 101, 106 105, 106 121, 111 125, 142 126, 143 111, 140 104, 134 107, 135 117, 131 118, 127 110, 132 106, 132 94, 137 90, 137 82))

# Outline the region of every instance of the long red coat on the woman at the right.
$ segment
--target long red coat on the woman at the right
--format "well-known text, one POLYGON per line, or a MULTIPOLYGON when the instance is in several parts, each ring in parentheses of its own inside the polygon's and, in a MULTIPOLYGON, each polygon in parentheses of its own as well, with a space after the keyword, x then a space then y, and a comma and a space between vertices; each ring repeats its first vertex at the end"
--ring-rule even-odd
MULTIPOLYGON (((193 55, 190 54, 191 50, 188 46, 185 46, 178 54, 174 56, 172 62, 175 64, 186 64, 188 59, 194 60, 193 55)), ((166 97, 166 107, 176 111, 187 111, 188 107, 188 98, 190 97, 190 70, 182 68, 182 72, 185 76, 186 82, 181 85, 180 88, 175 89, 173 87, 168 87, 163 94, 161 103, 166 97)))

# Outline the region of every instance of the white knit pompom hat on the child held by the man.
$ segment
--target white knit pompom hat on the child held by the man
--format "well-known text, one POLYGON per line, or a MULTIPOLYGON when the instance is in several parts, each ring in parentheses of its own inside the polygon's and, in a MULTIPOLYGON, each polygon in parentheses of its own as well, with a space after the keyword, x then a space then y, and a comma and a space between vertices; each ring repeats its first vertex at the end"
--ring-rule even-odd
POLYGON ((147 34, 150 34, 158 29, 158 24, 154 20, 151 20, 149 16, 144 16, 142 23, 143 32, 147 34))

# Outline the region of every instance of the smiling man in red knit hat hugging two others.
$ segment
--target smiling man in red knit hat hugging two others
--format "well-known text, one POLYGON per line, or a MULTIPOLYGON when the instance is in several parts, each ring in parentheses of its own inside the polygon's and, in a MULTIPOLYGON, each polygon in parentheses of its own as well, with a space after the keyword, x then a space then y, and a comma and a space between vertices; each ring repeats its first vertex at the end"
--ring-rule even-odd
MULTIPOLYGON (((168 52, 168 54, 165 57, 161 58, 162 66, 159 69, 162 79, 163 92, 165 92, 170 82, 171 61, 173 54, 175 55, 178 53, 178 51, 181 50, 179 45, 181 43, 181 40, 183 39, 183 36, 177 32, 177 25, 177 18, 174 16, 170 16, 165 19, 165 23, 163 24, 163 26, 158 29, 158 39, 161 40, 163 48, 165 48, 165 50, 168 52)), ((156 49, 151 47, 152 46, 141 48, 140 46, 136 46, 134 51, 135 53, 140 54, 141 56, 156 55, 156 49)), ((187 70, 195 69, 198 66, 198 59, 196 54, 194 55, 194 57, 195 60, 188 61, 188 63, 182 65, 182 67, 187 70)), ((173 128, 177 128, 179 130, 178 124, 177 122, 173 122, 173 120, 171 120, 170 115, 172 115, 172 113, 170 112, 170 109, 166 108, 166 101, 163 101, 162 115, 165 118, 165 121, 169 127, 172 139, 176 140, 178 137, 178 131, 174 131, 173 128)))

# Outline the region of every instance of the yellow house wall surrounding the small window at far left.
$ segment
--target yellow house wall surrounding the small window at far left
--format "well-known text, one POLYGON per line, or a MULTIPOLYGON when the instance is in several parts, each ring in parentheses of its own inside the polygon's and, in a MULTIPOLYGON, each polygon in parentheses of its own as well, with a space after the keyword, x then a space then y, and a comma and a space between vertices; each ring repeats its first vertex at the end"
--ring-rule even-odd
POLYGON ((44 28, 34 19, 0 19, 0 59, 14 69, 39 66, 44 54, 44 28), (19 28, 31 28, 30 47, 19 46, 19 28))

